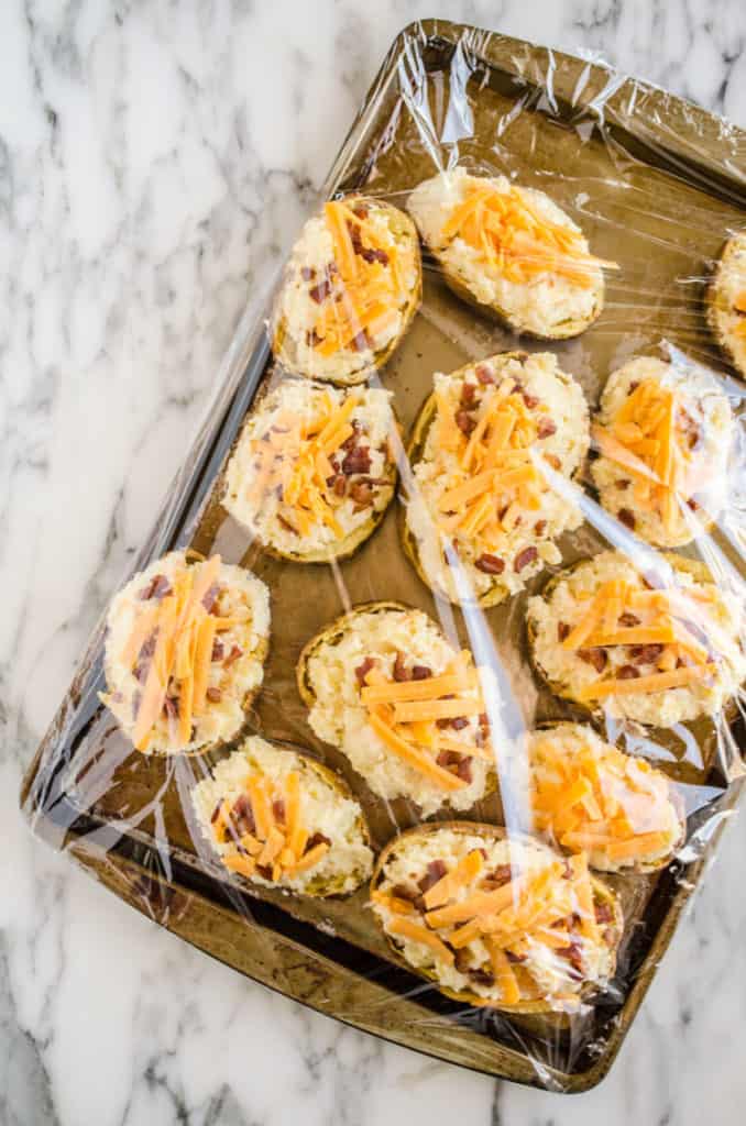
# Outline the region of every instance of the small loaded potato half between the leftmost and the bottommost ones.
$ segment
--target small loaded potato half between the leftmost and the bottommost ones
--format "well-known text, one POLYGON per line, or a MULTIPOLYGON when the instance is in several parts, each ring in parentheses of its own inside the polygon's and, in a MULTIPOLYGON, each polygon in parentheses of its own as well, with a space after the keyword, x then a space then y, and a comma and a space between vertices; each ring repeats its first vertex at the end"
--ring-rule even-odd
POLYGON ((348 895, 371 875, 358 803, 332 770, 257 735, 192 790, 197 824, 245 879, 302 895, 348 895))

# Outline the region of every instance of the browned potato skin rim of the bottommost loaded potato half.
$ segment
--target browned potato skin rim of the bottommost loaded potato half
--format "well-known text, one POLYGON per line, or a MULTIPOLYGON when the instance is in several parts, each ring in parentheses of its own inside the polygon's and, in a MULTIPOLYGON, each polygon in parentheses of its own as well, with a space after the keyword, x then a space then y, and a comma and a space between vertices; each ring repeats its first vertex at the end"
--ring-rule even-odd
MULTIPOLYGON (((523 841, 526 841, 526 843, 530 842, 532 844, 539 844, 541 848, 545 849, 548 852, 552 852, 552 854, 554 852, 553 849, 551 849, 548 844, 545 844, 543 841, 539 840, 538 838, 527 837, 527 835, 521 834, 521 833, 509 833, 508 834, 507 830, 505 830, 500 825, 489 825, 489 824, 483 824, 483 823, 479 823, 479 822, 470 822, 470 821, 438 821, 438 822, 435 822, 435 823, 432 823, 432 824, 417 825, 415 829, 408 829, 406 832, 400 833, 398 837, 394 837, 393 840, 389 841, 389 843, 385 846, 385 848, 379 855, 379 858, 378 858, 378 860, 375 863, 375 867, 373 869, 373 875, 371 877, 371 891, 375 891, 376 890, 376 886, 378 886, 379 882, 381 881, 381 878, 383 876, 383 868, 385 866, 387 860, 389 859, 389 856, 391 855, 391 852, 396 851, 397 846, 402 840, 409 839, 409 838, 414 838, 414 837, 418 837, 418 835, 426 835, 426 834, 436 833, 441 829, 447 829, 447 830, 450 830, 452 832, 455 832, 455 833, 465 833, 465 834, 474 834, 474 833, 477 833, 477 834, 479 834, 481 837, 485 837, 488 840, 505 840, 506 838, 509 837, 510 840, 518 840, 518 841, 523 840, 523 841)), ((557 854, 557 855, 559 855, 559 854, 557 854)), ((623 931, 623 928, 624 928, 624 918, 623 918, 623 914, 622 914, 622 909, 621 909, 621 905, 619 903, 619 900, 616 899, 616 895, 612 892, 612 890, 610 887, 607 887, 606 884, 604 884, 604 882, 602 879, 598 879, 597 876, 593 876, 592 875, 590 876, 590 881, 592 881, 592 884, 593 884, 594 900, 596 902, 602 902, 602 903, 609 904, 609 906, 612 909, 612 912, 613 912, 613 921, 609 923, 609 929, 612 931, 612 935, 613 935, 613 942, 610 942, 609 946, 610 946, 610 949, 612 950, 612 954, 613 954, 614 950, 615 950, 616 945, 619 944, 619 940, 620 940, 620 938, 622 936, 622 931, 623 931)), ((468 1004, 468 1006, 473 1006, 473 1007, 478 1007, 478 1008, 499 1009, 500 1012, 515 1013, 516 1016, 518 1016, 518 1015, 539 1016, 539 1015, 549 1015, 549 1013, 551 1013, 553 1016, 557 1016, 556 1010, 547 1001, 519 1001, 517 1004, 500 1004, 500 1006, 498 1006, 498 1004, 495 1004, 492 1002, 486 1002, 485 998, 480 997, 478 993, 470 993, 468 991, 455 992, 454 990, 445 989, 445 988, 443 988, 441 985, 437 985, 436 978, 435 978, 434 975, 430 975, 427 972, 421 971, 421 969, 415 969, 415 967, 411 966, 401 956, 401 954, 399 953, 396 944, 389 938, 388 935, 385 936, 385 938, 387 938, 387 941, 388 941, 389 946, 391 947, 391 949, 396 954, 397 959, 398 959, 398 962, 399 962, 400 965, 403 965, 407 969, 409 969, 410 973, 417 973, 421 977, 425 977, 428 981, 433 981, 436 984, 436 988, 438 989, 438 991, 441 993, 445 994, 445 997, 450 998, 452 1001, 459 1001, 461 1004, 468 1004)), ((615 965, 615 956, 613 958, 612 973, 613 973, 614 965, 615 965)), ((581 998, 587 999, 587 998, 590 998, 594 992, 595 992, 595 988, 593 986, 593 984, 589 984, 581 992, 580 995, 581 995, 581 998)))

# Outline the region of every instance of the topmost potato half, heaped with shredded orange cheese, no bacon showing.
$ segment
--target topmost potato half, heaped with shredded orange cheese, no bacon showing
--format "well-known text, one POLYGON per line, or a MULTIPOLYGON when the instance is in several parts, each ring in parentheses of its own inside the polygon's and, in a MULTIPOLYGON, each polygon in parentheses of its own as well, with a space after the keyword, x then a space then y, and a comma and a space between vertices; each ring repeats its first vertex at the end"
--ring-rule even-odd
POLYGON ((576 337, 604 304, 604 269, 543 191, 455 168, 420 184, 407 209, 451 288, 514 332, 576 337))

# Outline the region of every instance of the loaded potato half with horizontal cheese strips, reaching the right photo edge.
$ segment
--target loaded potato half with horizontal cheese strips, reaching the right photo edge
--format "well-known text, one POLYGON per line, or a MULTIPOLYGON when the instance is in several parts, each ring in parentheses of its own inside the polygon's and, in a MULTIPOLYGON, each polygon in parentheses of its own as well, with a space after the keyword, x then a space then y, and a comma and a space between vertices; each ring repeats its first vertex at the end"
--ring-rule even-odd
POLYGON ((703 564, 602 552, 560 571, 527 606, 538 672, 558 696, 657 727, 716 715, 746 677, 743 602, 703 564))

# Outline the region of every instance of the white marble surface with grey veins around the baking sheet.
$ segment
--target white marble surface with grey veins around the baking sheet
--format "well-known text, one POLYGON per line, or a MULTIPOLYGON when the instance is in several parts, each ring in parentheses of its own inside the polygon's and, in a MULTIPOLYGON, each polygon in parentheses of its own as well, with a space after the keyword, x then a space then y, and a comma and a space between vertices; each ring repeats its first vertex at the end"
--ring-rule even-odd
POLYGON ((437 14, 598 48, 746 125, 743 0, 0 7, 2 1126, 744 1120, 743 816, 610 1079, 563 1099, 243 981, 34 841, 16 810, 252 279, 394 33, 437 14))

